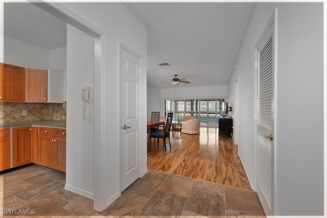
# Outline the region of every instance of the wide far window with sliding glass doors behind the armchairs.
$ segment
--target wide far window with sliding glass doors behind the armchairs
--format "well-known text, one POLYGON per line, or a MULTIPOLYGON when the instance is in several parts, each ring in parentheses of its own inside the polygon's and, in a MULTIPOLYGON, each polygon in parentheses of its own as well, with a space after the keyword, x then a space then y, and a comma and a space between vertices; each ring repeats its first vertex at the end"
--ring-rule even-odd
POLYGON ((184 116, 200 118, 203 127, 217 127, 224 99, 165 100, 165 117, 173 112, 173 121, 184 116))

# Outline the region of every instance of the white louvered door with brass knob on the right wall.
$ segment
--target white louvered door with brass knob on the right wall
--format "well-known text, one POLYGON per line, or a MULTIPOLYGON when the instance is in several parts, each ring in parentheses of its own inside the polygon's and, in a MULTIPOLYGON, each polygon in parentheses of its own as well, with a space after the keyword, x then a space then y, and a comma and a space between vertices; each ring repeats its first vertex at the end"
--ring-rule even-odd
POLYGON ((256 46, 256 191, 266 215, 274 211, 274 21, 256 46))

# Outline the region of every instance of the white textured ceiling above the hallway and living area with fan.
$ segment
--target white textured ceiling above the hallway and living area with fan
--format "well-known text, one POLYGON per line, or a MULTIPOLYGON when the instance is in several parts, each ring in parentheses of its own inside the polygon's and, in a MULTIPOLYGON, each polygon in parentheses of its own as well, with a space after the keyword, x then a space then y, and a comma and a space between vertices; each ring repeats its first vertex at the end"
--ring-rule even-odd
POLYGON ((228 84, 235 68, 253 3, 128 3, 149 25, 147 82, 162 83, 175 74, 190 84, 228 84), (168 62, 170 67, 158 64, 168 62))

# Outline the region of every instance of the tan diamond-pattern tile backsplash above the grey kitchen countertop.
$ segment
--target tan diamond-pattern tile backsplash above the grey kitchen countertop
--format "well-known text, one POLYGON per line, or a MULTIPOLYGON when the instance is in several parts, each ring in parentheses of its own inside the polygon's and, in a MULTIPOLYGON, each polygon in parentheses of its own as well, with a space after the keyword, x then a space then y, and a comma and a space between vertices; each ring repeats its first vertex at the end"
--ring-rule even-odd
POLYGON ((0 102, 0 122, 43 119, 66 120, 66 102, 63 104, 0 102), (22 115, 23 110, 27 111, 27 115, 22 115))

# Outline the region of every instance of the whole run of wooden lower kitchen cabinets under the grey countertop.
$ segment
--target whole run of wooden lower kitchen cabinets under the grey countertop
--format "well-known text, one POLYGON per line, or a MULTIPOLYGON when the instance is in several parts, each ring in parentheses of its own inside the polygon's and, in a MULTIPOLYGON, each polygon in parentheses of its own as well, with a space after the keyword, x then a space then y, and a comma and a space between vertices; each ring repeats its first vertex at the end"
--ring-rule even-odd
POLYGON ((66 172, 66 129, 13 127, 11 137, 12 154, 10 128, 0 129, 0 171, 32 162, 66 172))

